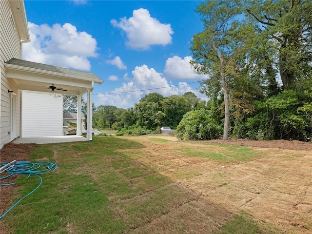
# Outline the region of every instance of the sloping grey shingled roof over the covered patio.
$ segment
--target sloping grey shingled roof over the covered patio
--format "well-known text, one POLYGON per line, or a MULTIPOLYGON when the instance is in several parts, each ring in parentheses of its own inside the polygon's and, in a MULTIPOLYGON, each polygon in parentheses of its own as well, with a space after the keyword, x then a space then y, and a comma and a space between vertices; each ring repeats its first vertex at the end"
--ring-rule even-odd
MULTIPOLYGON (((99 83, 99 84, 103 83, 103 80, 101 78, 99 78, 98 76, 96 76, 95 74, 93 74, 91 72, 82 72, 82 71, 67 69, 67 68, 63 68, 63 67, 57 67, 57 66, 42 64, 42 63, 38 63, 38 62, 31 62, 31 61, 26 61, 26 60, 22 60, 22 59, 15 59, 15 58, 10 59, 5 63, 10 64, 10 65, 19 66, 19 67, 24 68, 24 69, 27 69, 27 68, 28 69, 36 69, 36 70, 51 72, 51 73, 55 73, 55 74, 62 74, 66 77, 88 79, 88 80, 92 80, 92 81, 99 83)), ((10 65, 6 65, 6 66, 10 66, 10 65)))

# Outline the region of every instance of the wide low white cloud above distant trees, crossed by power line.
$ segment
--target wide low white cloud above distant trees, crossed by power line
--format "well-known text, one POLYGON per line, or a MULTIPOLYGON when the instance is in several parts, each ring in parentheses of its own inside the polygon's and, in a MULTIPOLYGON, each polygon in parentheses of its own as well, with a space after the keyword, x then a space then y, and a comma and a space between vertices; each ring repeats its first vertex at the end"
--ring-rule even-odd
POLYGON ((164 97, 169 97, 171 95, 182 95, 191 91, 195 93, 197 97, 200 96, 198 91, 194 90, 186 82, 179 82, 178 86, 173 86, 161 73, 156 72, 154 68, 148 68, 146 65, 136 67, 135 70, 132 71, 132 75, 133 78, 131 78, 129 82, 123 83, 121 87, 116 88, 110 93, 97 95, 96 106, 113 105, 118 108, 134 107, 135 103, 138 103, 141 98, 153 92, 157 92, 164 97))

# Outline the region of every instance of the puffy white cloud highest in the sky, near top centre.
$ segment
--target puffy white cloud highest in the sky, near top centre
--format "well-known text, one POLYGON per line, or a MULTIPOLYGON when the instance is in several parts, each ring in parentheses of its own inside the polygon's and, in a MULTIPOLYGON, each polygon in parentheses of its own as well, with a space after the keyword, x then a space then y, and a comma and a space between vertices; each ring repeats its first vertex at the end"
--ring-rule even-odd
POLYGON ((174 33, 170 24, 160 23, 143 8, 134 10, 133 17, 124 17, 120 21, 113 19, 111 24, 126 33, 126 45, 133 49, 147 50, 151 45, 165 46, 172 42, 171 35, 174 33))

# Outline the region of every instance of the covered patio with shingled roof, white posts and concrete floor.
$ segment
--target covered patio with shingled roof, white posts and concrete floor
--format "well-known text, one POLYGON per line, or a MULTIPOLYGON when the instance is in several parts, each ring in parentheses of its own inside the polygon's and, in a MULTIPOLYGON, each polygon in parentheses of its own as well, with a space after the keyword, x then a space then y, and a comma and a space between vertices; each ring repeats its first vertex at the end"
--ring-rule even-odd
MULTIPOLYGON (((13 141, 14 143, 43 144, 86 140, 92 141, 92 91, 95 83, 103 83, 101 78, 89 72, 30 62, 22 59, 10 59, 4 63, 4 66, 7 72, 7 78, 11 79, 19 90, 47 92, 55 95, 77 95, 78 122, 82 119, 81 98, 82 95, 87 93, 86 138, 81 136, 82 130, 81 126, 78 124, 76 136, 23 137, 21 131, 18 131, 20 132, 20 136, 17 136, 18 138, 13 141)), ((22 115, 23 113, 20 114, 22 115)), ((63 122, 60 124, 62 123, 63 122)), ((19 126, 16 126, 16 128, 19 128, 19 126)))

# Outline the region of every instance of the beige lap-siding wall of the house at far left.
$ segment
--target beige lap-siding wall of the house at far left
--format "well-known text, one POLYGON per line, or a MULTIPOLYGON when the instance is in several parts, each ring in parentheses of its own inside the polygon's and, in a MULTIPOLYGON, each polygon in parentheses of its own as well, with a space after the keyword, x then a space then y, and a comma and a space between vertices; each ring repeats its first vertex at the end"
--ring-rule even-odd
POLYGON ((10 119, 10 94, 8 90, 12 90, 16 97, 16 117, 14 126, 14 136, 20 136, 20 91, 17 85, 7 79, 4 68, 4 61, 12 58, 21 59, 21 43, 18 30, 15 25, 11 6, 8 0, 0 0, 0 148, 5 143, 12 140, 10 119))

